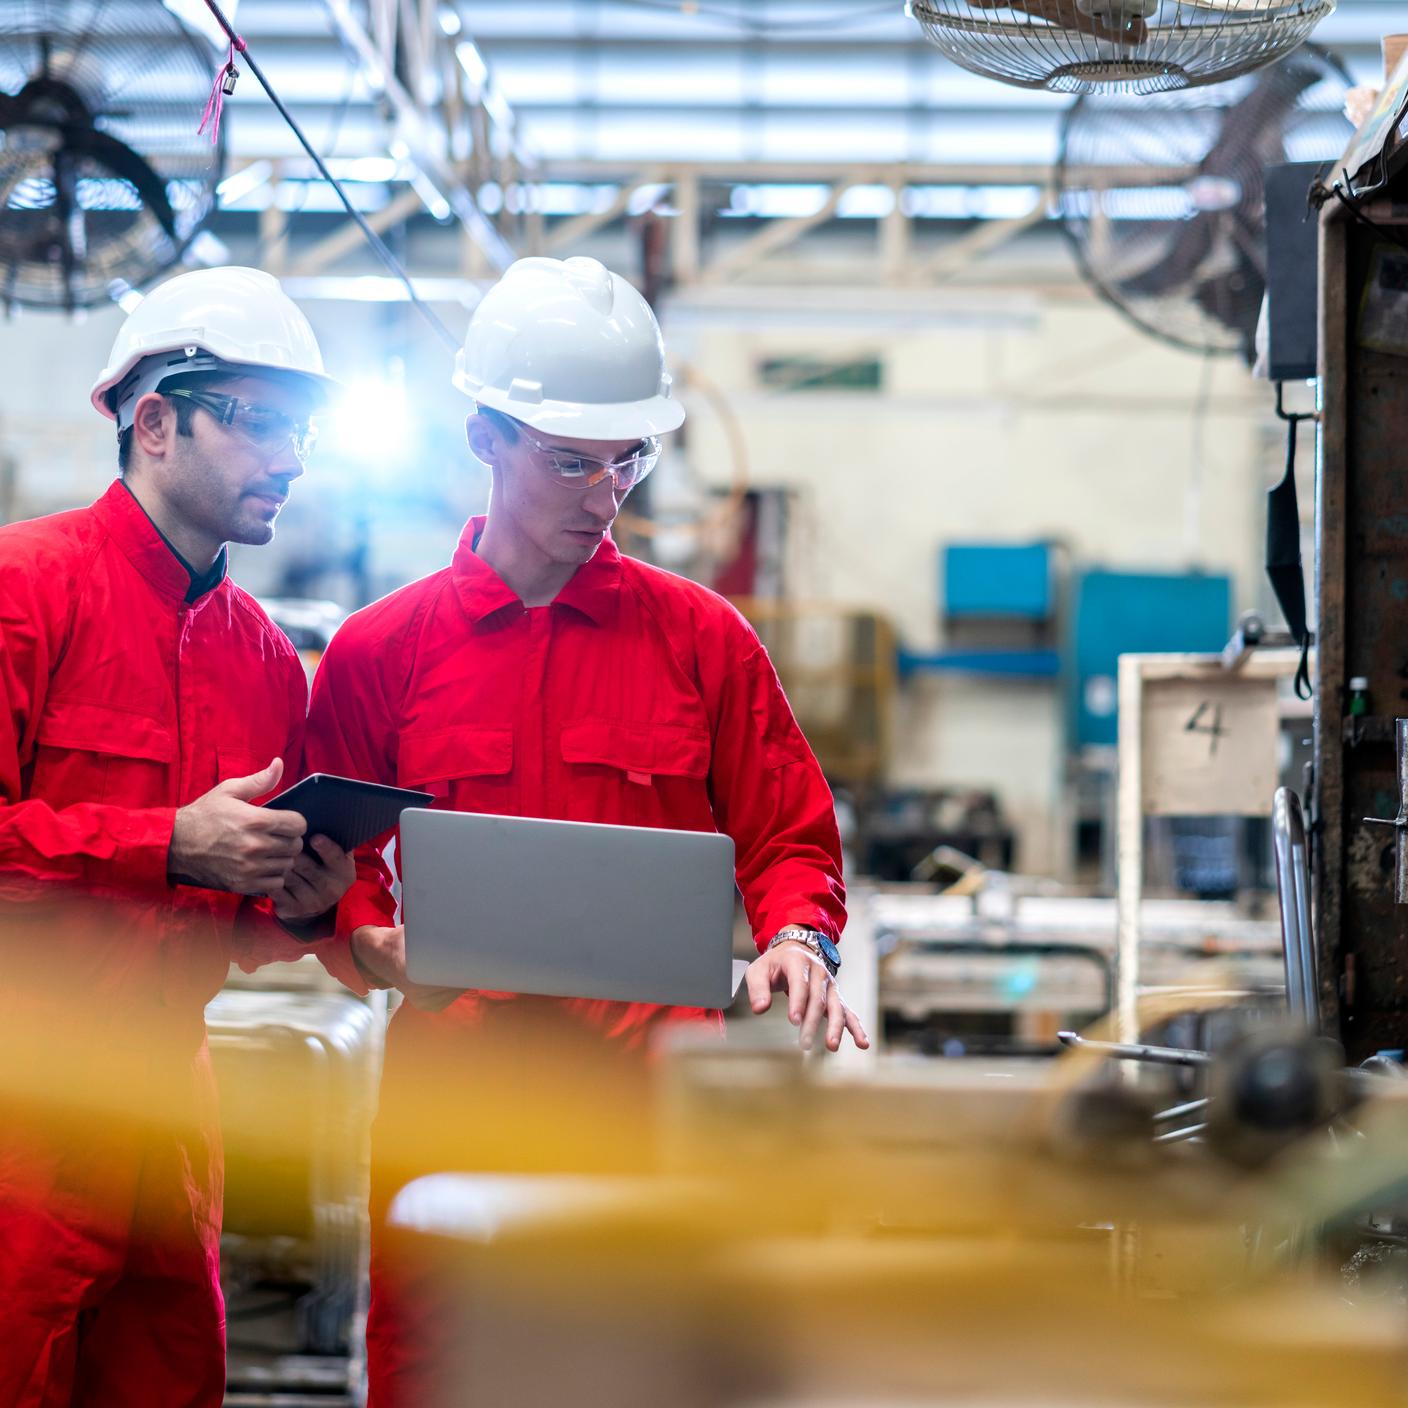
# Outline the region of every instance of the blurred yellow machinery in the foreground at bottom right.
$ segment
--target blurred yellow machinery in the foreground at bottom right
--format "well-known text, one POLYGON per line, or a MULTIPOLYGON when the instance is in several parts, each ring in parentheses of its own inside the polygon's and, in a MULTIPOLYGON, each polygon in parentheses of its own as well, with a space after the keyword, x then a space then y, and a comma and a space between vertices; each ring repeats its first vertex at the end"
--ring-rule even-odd
POLYGON ((1140 1069, 677 1049, 658 1176, 563 1150, 403 1190, 398 1252, 455 1316, 428 1408, 1398 1408, 1408 1083, 1286 1033, 1195 1073, 1211 1097, 1140 1069))

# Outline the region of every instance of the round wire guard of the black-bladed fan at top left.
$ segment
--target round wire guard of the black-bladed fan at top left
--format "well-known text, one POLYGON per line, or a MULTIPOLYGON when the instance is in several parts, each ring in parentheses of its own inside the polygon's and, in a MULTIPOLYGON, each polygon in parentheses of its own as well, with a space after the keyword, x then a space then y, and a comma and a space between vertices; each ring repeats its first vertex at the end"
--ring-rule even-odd
POLYGON ((159 3, 0 4, 0 303, 107 303, 215 204, 214 51, 159 3))

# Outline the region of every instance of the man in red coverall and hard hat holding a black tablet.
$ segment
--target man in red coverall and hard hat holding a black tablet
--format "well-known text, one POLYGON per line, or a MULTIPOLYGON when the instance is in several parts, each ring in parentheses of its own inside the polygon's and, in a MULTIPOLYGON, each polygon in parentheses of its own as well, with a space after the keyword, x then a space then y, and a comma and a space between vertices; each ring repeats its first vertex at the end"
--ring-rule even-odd
POLYGON ((304 952, 353 877, 252 805, 301 766, 307 687, 225 543, 273 536, 329 386, 272 277, 172 279, 93 390, 121 477, 0 528, 7 1408, 224 1398, 204 1007, 232 959, 304 952))

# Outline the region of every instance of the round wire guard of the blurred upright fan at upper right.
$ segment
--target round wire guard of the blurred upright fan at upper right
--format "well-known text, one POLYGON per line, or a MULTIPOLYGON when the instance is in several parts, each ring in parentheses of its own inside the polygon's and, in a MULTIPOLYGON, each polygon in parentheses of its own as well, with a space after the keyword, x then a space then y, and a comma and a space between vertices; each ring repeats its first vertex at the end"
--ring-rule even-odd
POLYGON ((1077 99, 1055 184, 1084 279, 1166 342, 1250 360, 1266 287, 1264 168, 1336 158, 1350 138, 1349 84, 1338 59, 1305 45, 1214 87, 1077 99))

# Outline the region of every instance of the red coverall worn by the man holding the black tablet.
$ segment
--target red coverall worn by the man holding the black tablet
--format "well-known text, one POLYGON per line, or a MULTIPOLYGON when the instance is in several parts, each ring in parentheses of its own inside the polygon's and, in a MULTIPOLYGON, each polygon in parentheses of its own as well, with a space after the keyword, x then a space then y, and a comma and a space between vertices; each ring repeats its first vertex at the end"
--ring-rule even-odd
POLYGON ((121 483, 0 528, 0 1404, 218 1405, 206 1002, 303 948, 175 886, 176 808, 301 756, 298 658, 121 483))

